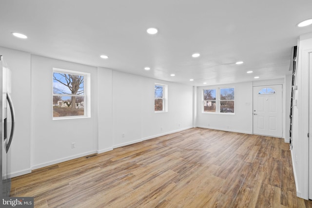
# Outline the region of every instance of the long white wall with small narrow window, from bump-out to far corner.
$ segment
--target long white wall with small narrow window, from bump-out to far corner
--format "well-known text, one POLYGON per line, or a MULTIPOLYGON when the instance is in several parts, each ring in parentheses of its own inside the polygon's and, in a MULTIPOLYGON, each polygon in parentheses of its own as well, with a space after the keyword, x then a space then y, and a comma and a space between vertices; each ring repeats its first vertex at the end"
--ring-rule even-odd
POLYGON ((192 128, 192 91, 192 86, 113 71, 114 148, 192 128), (155 83, 168 85, 168 112, 154 111, 155 83))

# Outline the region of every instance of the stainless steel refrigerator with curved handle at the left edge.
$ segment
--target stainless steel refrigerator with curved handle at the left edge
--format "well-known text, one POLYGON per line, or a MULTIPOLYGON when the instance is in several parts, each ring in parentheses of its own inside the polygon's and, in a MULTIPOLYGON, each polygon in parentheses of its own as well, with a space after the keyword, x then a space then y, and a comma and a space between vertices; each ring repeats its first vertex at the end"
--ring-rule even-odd
POLYGON ((8 172, 11 168, 11 144, 14 133, 15 113, 11 99, 11 71, 0 55, 0 175, 2 175, 2 183, 0 183, 1 197, 10 196, 11 178, 8 172))

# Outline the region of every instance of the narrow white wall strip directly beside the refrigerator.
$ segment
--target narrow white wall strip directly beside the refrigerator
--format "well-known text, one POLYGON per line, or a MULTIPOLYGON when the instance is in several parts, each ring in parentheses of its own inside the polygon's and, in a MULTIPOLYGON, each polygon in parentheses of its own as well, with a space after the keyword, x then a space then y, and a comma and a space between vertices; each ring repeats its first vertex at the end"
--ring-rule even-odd
POLYGON ((0 47, 0 55, 12 72, 12 100, 16 112, 16 129, 11 145, 11 176, 29 173, 31 137, 30 54, 0 47))

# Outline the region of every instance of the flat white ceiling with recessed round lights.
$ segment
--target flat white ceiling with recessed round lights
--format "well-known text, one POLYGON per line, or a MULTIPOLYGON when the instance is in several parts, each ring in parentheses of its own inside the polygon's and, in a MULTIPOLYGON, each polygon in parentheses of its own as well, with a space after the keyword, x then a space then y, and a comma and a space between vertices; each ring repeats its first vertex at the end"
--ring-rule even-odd
POLYGON ((310 18, 311 0, 1 0, 0 46, 188 85, 215 85, 290 74, 292 46, 299 35, 312 32, 312 25, 296 24, 310 18), (147 34, 149 27, 158 34, 147 34), (236 65, 239 60, 244 64, 236 65))

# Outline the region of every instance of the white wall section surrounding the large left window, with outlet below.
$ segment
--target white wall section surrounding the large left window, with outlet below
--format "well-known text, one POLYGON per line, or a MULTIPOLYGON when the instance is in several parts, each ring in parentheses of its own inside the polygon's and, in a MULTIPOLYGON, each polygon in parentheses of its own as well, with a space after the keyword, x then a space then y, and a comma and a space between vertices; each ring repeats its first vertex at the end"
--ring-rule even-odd
POLYGON ((32 169, 93 153, 98 148, 96 67, 31 56, 32 169), (52 120, 52 70, 91 74, 91 118, 52 120), (71 143, 76 148, 71 148, 71 143))

